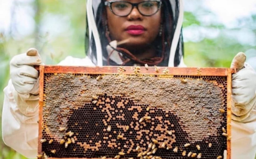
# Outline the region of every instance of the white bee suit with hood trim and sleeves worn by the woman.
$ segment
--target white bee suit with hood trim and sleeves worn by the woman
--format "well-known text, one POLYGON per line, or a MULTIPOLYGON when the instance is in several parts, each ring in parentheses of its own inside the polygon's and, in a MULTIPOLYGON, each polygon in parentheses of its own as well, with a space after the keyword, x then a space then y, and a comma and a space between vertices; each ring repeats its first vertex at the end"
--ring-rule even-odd
MULTIPOLYGON (((97 12, 99 0, 87 0, 87 18, 89 27, 89 40, 94 37, 97 57, 90 59, 89 57, 80 59, 68 56, 65 60, 61 61, 59 65, 66 66, 102 66, 101 44, 98 36, 98 31, 95 23, 94 12, 97 12), (94 64, 95 63, 95 64, 94 64)), ((181 47, 180 33, 181 24, 183 21, 183 5, 182 0, 170 0, 175 16, 177 16, 177 25, 172 40, 172 47, 170 49, 169 66, 174 66, 174 56, 176 48, 181 47), (178 5, 177 5, 178 4, 178 5), (176 8, 175 8, 176 6, 176 8), (177 8, 178 7, 178 8, 177 8)), ((89 54, 92 49, 90 48, 89 54)), ((25 55, 24 55, 25 56, 25 55)), ((15 63, 15 61, 13 61, 15 63)), ((185 67, 183 57, 178 67, 185 67)), ((246 65, 247 67, 247 65, 246 65)), ((248 66, 249 67, 249 66, 248 66)), ((243 70, 243 69, 242 69, 243 70)), ((232 159, 254 159, 256 152, 256 97, 255 90, 251 93, 252 96, 242 96, 249 90, 256 88, 256 78, 253 71, 240 70, 236 78, 233 79, 234 85, 238 85, 236 90, 239 97, 243 97, 240 104, 233 107, 236 111, 233 112, 232 121, 232 159), (251 80, 255 79, 255 81, 251 80), (247 81, 246 84, 241 81, 247 81), (240 84, 240 85, 239 85, 240 84), (242 104, 241 104, 242 103, 242 104)), ((11 71, 17 71, 13 68, 11 71)), ((15 77, 12 78, 15 80, 15 77)), ((15 90, 16 85, 9 81, 7 87, 4 89, 4 104, 2 113, 2 134, 3 141, 6 145, 10 146, 17 152, 23 154, 28 158, 36 158, 38 148, 38 96, 32 94, 22 94, 20 91, 15 90)), ((24 86, 25 87, 25 86, 24 86)), ((21 87, 22 88, 22 87, 21 87)), ((202 156, 203 158, 203 156, 202 156)))

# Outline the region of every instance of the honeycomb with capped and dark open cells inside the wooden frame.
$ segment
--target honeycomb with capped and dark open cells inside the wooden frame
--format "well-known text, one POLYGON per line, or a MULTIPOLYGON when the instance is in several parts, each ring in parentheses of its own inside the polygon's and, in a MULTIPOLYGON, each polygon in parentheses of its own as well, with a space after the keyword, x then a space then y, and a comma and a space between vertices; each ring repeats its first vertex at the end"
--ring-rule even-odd
POLYGON ((48 157, 216 159, 227 149, 227 77, 44 73, 43 97, 48 157))

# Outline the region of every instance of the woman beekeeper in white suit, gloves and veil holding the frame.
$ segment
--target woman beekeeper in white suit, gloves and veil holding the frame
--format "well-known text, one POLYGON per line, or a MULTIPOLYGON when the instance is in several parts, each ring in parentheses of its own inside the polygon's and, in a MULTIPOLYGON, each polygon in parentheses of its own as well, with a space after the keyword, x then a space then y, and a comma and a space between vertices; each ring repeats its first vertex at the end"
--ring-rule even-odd
MULTIPOLYGON (((182 0, 87 0, 87 56, 68 56, 59 65, 185 67, 182 0), (117 40, 115 42, 114 40, 117 40)), ((239 51, 239 50, 238 50, 239 51)), ((232 159, 254 159, 256 152, 256 72, 244 54, 232 67, 232 159), (239 66, 240 65, 240 66, 239 66)), ((38 147, 39 53, 16 55, 4 89, 2 134, 6 145, 28 158, 38 147)))

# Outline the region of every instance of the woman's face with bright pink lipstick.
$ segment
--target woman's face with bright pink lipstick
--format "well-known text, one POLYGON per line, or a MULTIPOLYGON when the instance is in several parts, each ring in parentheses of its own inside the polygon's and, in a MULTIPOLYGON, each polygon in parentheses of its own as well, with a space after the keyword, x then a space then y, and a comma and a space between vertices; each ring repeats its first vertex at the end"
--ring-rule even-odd
MULTIPOLYGON (((125 0, 131 3, 139 3, 143 0, 125 0)), ((144 0, 145 1, 145 0, 144 0)), ((122 4, 118 6, 113 6, 112 9, 124 7, 122 4)), ((148 7, 148 4, 140 6, 148 7)), ((141 10, 142 10, 141 9, 141 10)), ((118 11, 120 11, 119 9, 118 11)), ((141 11, 140 10, 140 11, 141 11)), ((110 31, 110 36, 113 40, 123 41, 129 39, 129 42, 125 43, 122 47, 128 50, 133 49, 143 49, 148 47, 158 36, 160 24, 161 24, 161 8, 156 14, 152 16, 142 15, 137 7, 134 7, 130 14, 127 16, 115 15, 110 7, 106 6, 108 26, 110 31)), ((145 11, 145 10, 144 10, 145 11)), ((122 12, 120 12, 121 14, 122 12)))

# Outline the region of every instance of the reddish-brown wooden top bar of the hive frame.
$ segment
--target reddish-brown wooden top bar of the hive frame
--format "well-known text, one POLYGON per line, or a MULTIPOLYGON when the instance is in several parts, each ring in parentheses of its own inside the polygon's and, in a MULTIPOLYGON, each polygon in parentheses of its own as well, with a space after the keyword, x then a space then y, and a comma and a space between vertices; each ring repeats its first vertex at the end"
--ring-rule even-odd
MULTIPOLYGON (((43 66, 43 65, 41 65, 43 66)), ((140 68, 138 73, 135 73, 132 66, 51 66, 44 65, 44 73, 86 73, 86 74, 152 74, 152 75, 193 75, 193 76, 227 76, 228 72, 236 73, 235 69, 231 68, 190 68, 190 67, 157 67, 159 72, 156 72, 155 67, 137 67, 140 68), (120 71, 123 70, 123 71, 120 71), (164 72, 168 70, 169 72, 164 72)), ((39 70, 37 66, 36 69, 39 70)))

